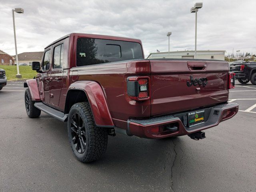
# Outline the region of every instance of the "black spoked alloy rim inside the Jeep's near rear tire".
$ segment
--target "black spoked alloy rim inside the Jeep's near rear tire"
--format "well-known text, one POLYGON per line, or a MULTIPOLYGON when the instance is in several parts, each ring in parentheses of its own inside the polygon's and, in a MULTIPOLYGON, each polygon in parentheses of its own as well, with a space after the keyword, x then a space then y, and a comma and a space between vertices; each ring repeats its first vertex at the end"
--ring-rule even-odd
POLYGON ((72 115, 70 128, 73 145, 78 153, 83 154, 86 149, 86 130, 80 114, 72 115))

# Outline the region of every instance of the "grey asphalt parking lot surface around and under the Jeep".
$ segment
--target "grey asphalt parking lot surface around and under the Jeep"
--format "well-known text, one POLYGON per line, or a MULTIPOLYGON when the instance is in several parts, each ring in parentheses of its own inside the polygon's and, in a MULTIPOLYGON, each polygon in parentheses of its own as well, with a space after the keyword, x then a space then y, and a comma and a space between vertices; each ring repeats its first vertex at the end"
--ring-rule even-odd
POLYGON ((102 159, 76 160, 66 122, 42 113, 30 119, 22 82, 0 91, 1 191, 256 191, 256 86, 237 83, 230 101, 240 111, 206 130, 200 141, 188 136, 148 140, 118 134, 102 159))

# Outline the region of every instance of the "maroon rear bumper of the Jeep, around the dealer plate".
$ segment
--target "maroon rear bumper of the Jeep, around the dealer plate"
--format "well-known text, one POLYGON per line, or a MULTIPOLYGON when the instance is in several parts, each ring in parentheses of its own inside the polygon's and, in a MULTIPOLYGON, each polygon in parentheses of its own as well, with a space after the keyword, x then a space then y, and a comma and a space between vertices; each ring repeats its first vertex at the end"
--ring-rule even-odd
POLYGON ((238 104, 226 103, 210 108, 204 108, 205 122, 193 127, 188 127, 182 117, 188 112, 155 117, 147 120, 128 120, 128 135, 135 135, 144 138, 166 138, 172 136, 182 136, 198 132, 204 129, 217 126, 220 122, 232 118, 238 112, 238 104), (166 126, 176 126, 174 131, 164 130, 166 126), (159 128, 159 132, 152 132, 152 128, 159 128))

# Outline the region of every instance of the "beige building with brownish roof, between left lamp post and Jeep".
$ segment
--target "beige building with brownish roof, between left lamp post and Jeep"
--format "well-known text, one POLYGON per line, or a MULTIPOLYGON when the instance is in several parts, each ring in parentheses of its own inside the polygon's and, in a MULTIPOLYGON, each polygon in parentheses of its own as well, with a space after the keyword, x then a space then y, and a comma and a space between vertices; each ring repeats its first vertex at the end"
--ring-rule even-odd
MULTIPOLYGON (((24 52, 18 54, 19 63, 26 63, 31 65, 33 61, 41 62, 44 52, 24 52)), ((16 57, 15 55, 13 57, 16 57)))

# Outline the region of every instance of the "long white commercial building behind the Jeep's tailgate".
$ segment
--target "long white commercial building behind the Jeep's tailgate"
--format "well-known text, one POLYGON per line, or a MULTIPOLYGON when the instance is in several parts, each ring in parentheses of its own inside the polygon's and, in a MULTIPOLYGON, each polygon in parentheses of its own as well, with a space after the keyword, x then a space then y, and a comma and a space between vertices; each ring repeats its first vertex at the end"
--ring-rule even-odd
MULTIPOLYGON (((171 52, 156 52, 150 53, 147 58, 175 58, 175 59, 194 59, 195 51, 171 51, 171 52)), ((196 51, 196 59, 214 59, 224 60, 225 51, 196 51)))

